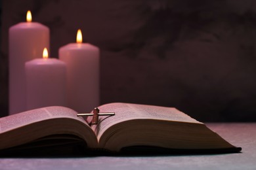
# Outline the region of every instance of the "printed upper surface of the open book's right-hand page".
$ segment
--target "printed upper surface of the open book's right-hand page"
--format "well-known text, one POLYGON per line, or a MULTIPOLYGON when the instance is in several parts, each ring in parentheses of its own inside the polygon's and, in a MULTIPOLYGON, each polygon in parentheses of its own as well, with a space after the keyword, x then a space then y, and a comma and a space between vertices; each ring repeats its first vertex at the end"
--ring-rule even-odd
POLYGON ((131 103, 110 103, 102 105, 98 107, 98 109, 100 109, 100 112, 115 112, 114 116, 100 116, 98 125, 92 126, 98 140, 100 139, 102 133, 108 129, 108 127, 126 120, 154 119, 202 124, 187 114, 184 114, 183 112, 171 107, 159 107, 131 103))

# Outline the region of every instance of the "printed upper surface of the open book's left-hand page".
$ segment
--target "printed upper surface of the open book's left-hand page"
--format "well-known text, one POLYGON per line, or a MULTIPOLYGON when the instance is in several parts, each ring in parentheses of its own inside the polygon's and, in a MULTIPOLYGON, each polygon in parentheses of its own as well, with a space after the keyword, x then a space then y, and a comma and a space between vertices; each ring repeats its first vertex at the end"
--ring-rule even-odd
POLYGON ((44 107, 29 110, 0 118, 0 133, 51 118, 73 118, 85 122, 83 118, 77 117, 76 114, 74 110, 66 107, 44 107))

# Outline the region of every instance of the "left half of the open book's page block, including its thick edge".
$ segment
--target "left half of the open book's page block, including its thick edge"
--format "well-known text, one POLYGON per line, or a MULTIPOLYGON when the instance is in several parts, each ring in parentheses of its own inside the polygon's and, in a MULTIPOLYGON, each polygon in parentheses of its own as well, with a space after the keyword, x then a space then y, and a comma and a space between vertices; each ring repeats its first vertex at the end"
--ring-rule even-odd
POLYGON ((78 138, 79 143, 83 139, 89 148, 98 145, 87 122, 66 107, 44 107, 0 118, 0 150, 40 141, 44 137, 48 140, 51 135, 58 135, 63 142, 64 135, 74 135, 75 143, 78 138))

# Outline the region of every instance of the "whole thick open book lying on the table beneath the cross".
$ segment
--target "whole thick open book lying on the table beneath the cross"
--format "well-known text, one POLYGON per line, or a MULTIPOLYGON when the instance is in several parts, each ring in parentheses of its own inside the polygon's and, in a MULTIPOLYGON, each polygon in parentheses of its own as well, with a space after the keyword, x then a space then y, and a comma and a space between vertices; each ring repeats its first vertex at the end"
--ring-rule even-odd
POLYGON ((21 152, 239 152, 203 123, 169 107, 110 103, 98 124, 66 107, 45 107, 0 118, 0 154, 21 152), (59 147, 60 146, 60 147, 59 147), (56 148, 61 148, 57 150, 56 148), (24 151, 25 150, 25 151, 24 151))

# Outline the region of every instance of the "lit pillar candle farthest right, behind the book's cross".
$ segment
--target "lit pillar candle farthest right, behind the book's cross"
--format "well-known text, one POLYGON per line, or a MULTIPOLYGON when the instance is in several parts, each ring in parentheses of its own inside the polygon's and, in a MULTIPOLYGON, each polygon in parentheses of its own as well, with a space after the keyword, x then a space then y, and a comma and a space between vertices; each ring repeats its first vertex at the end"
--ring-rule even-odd
POLYGON ((77 31, 77 43, 62 46, 60 60, 67 65, 68 107, 77 112, 89 112, 97 107, 99 99, 99 49, 82 43, 81 30, 77 31))

